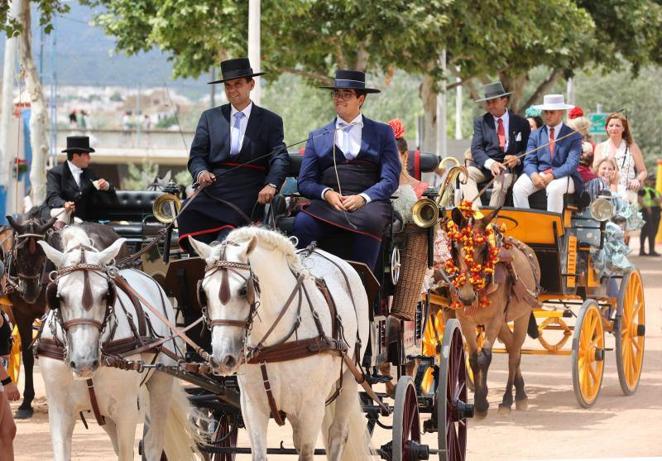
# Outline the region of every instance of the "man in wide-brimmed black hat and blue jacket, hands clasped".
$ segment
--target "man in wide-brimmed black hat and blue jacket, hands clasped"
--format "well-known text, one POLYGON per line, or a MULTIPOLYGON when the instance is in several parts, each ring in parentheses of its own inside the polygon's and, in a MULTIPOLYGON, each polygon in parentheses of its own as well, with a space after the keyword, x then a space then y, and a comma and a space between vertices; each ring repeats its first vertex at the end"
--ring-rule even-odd
POLYGON ((399 184, 395 137, 390 126, 361 114, 366 96, 379 93, 363 72, 338 70, 333 85, 322 88, 332 90, 337 117, 308 138, 298 185, 311 203, 297 215, 294 234, 300 248, 317 241, 335 253, 335 238, 348 235, 342 256, 374 270, 399 184))

